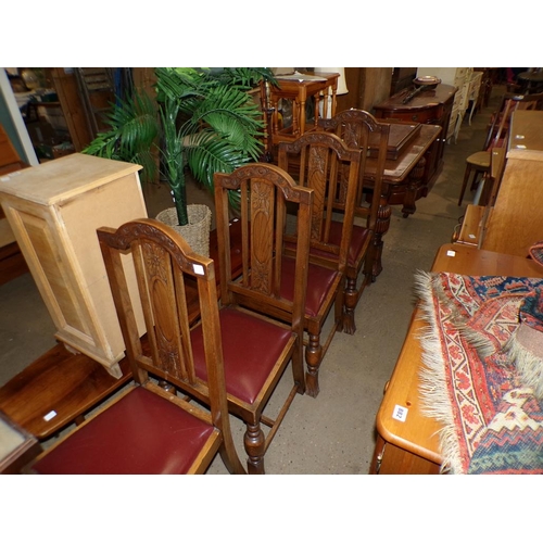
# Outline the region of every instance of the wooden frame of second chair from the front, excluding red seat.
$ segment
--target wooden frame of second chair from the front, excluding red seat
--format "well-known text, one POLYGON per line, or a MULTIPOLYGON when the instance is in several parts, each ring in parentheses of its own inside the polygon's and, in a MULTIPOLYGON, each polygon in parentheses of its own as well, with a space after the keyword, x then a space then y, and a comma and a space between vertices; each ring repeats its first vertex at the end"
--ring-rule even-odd
MULTIPOLYGON (((313 191, 299 187, 283 171, 273 164, 255 163, 239 167, 231 174, 214 176, 215 213, 220 270, 220 302, 223 310, 245 308, 261 318, 291 330, 292 343, 279 358, 275 369, 254 402, 243 402, 228 394, 230 413, 247 425, 244 437, 250 472, 264 472, 264 453, 296 394, 305 392, 303 371, 303 308, 305 306, 310 253, 310 219, 313 191), (241 275, 233 277, 230 264, 229 192, 239 191, 241 222, 241 275), (283 269, 282 247, 288 239, 287 207, 298 212, 294 280, 299 287, 292 298, 286 298, 281 287, 283 269), (270 395, 289 363, 293 384, 289 396, 275 419, 263 414, 270 395), (266 437, 261 422, 270 428, 266 437)), ((249 334, 251 330, 241 333, 249 334)), ((258 353, 254 354, 255 357, 258 353)), ((248 361, 249 365, 249 361, 248 361)), ((248 368, 250 371, 250 368, 248 368)), ((228 388, 228 381, 227 381, 228 388)))

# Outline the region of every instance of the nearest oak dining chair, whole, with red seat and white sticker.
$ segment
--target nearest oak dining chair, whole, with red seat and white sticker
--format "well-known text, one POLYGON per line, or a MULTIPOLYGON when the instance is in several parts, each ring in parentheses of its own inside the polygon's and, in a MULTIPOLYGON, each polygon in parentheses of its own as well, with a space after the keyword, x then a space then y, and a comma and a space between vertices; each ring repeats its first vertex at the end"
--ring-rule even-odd
POLYGON ((218 452, 231 473, 245 472, 230 430, 213 261, 193 253, 175 230, 151 218, 116 230, 99 228, 98 238, 134 382, 47 449, 29 471, 203 473, 218 452), (134 262, 138 280, 147 326, 142 338, 125 256, 134 262), (187 278, 198 285, 201 318, 193 329, 187 278), (194 334, 203 338, 198 348, 194 334), (160 387, 160 380, 172 383, 174 392, 160 387), (194 397, 202 403, 189 401, 194 397))

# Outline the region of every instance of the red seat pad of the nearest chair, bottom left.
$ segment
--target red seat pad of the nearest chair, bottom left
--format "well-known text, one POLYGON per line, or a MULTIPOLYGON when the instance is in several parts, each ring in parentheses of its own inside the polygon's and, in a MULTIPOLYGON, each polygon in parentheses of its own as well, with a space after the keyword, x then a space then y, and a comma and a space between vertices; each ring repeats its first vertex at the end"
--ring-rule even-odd
POLYGON ((136 387, 33 469, 42 475, 186 473, 213 431, 213 425, 136 387))

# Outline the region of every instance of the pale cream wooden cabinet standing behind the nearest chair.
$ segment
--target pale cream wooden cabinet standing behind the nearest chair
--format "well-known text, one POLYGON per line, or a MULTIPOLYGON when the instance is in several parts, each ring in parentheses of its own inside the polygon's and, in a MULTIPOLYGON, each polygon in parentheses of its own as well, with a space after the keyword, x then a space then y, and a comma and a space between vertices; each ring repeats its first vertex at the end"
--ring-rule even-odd
MULTIPOLYGON (((121 376, 124 341, 96 230, 147 217, 140 168, 76 153, 0 180, 0 202, 56 339, 115 377, 121 376)), ((136 293, 134 268, 128 272, 136 293)), ((143 333, 141 311, 137 319, 143 333)))

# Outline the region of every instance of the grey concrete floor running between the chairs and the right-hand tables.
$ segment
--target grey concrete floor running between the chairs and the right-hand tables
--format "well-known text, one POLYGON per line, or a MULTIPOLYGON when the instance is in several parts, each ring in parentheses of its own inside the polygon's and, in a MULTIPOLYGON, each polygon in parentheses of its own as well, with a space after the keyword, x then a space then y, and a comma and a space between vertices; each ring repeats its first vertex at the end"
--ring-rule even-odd
MULTIPOLYGON (((356 310, 354 336, 337 333, 320 368, 317 399, 295 397, 266 454, 267 473, 367 473, 375 445, 375 417, 383 387, 402 348, 414 307, 413 276, 428 270, 437 249, 451 236, 472 193, 457 206, 465 159, 481 149, 487 123, 503 91, 495 88, 487 109, 471 126, 464 121, 457 142, 445 148, 444 169, 417 211, 403 218, 393 209, 384 237, 383 270, 364 292, 356 310)), ((146 187, 150 216, 169 205, 165 187, 146 187)), ((195 188, 192 201, 206 201, 195 188)), ((0 386, 54 344, 54 328, 29 274, 0 287, 0 386)), ((288 370, 279 393, 287 393, 288 370)), ((273 411, 274 402, 269 408, 273 411)), ((244 460, 244 427, 233 422, 235 440, 244 460)), ((48 444, 46 443, 45 446, 48 444)), ((211 473, 226 472, 217 458, 211 473)))

